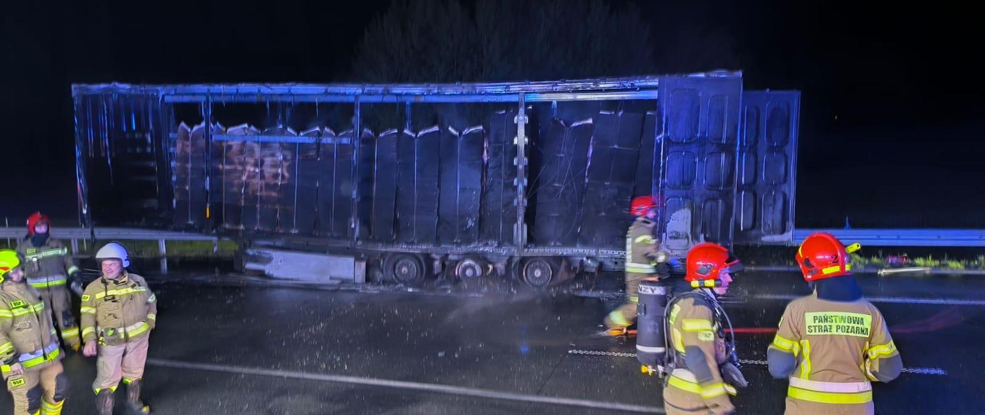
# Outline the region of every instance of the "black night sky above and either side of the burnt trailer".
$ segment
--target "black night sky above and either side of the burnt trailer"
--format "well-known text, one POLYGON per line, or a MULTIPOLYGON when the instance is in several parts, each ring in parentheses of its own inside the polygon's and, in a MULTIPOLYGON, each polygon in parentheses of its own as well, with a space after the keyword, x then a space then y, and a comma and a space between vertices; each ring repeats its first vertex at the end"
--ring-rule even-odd
MULTIPOLYGON (((71 83, 359 81, 362 29, 389 0, 23 3, 0 31, 0 220, 16 225, 37 208, 75 217, 71 83)), ((985 227, 975 13, 637 3, 658 50, 642 72, 742 69, 746 89, 803 91, 798 226, 985 227)))

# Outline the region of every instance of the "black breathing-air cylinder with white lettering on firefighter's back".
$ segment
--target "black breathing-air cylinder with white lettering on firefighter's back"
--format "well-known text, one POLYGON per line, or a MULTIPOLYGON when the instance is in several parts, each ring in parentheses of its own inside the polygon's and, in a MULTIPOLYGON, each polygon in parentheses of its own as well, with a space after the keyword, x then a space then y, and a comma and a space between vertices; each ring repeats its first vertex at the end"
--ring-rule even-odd
POLYGON ((639 283, 636 304, 636 359, 643 364, 642 371, 652 372, 662 368, 667 358, 664 340, 664 311, 670 287, 661 281, 644 279, 639 283))

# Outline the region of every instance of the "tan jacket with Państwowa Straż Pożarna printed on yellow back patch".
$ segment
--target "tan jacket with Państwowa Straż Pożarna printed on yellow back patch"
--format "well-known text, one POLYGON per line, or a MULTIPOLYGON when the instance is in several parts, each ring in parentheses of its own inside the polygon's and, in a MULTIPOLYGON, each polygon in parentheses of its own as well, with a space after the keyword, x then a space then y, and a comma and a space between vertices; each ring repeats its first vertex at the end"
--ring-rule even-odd
POLYGON ((881 369, 902 367, 876 306, 863 299, 823 300, 817 293, 787 305, 769 351, 796 358, 788 414, 872 413, 870 381, 879 380, 881 369))

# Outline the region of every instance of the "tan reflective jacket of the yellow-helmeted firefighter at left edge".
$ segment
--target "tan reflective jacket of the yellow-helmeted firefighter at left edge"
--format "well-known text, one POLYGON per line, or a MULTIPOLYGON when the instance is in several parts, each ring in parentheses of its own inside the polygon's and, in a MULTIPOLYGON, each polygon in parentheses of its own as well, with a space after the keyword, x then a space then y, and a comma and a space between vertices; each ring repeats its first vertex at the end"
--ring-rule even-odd
MULTIPOLYGON (((51 313, 40 295, 24 281, 0 282, 0 372, 11 376, 10 366, 40 371, 61 359, 51 313)), ((16 385, 15 385, 16 386, 16 385)))

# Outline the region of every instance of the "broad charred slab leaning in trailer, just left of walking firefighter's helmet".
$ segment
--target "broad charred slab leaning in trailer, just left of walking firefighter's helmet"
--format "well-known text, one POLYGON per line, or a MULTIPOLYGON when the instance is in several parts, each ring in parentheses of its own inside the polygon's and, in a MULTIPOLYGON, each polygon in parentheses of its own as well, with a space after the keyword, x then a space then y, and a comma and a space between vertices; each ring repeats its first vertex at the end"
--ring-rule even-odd
POLYGON ((582 206, 580 246, 619 249, 624 245, 627 208, 639 159, 643 115, 601 112, 595 117, 588 184, 582 206))

